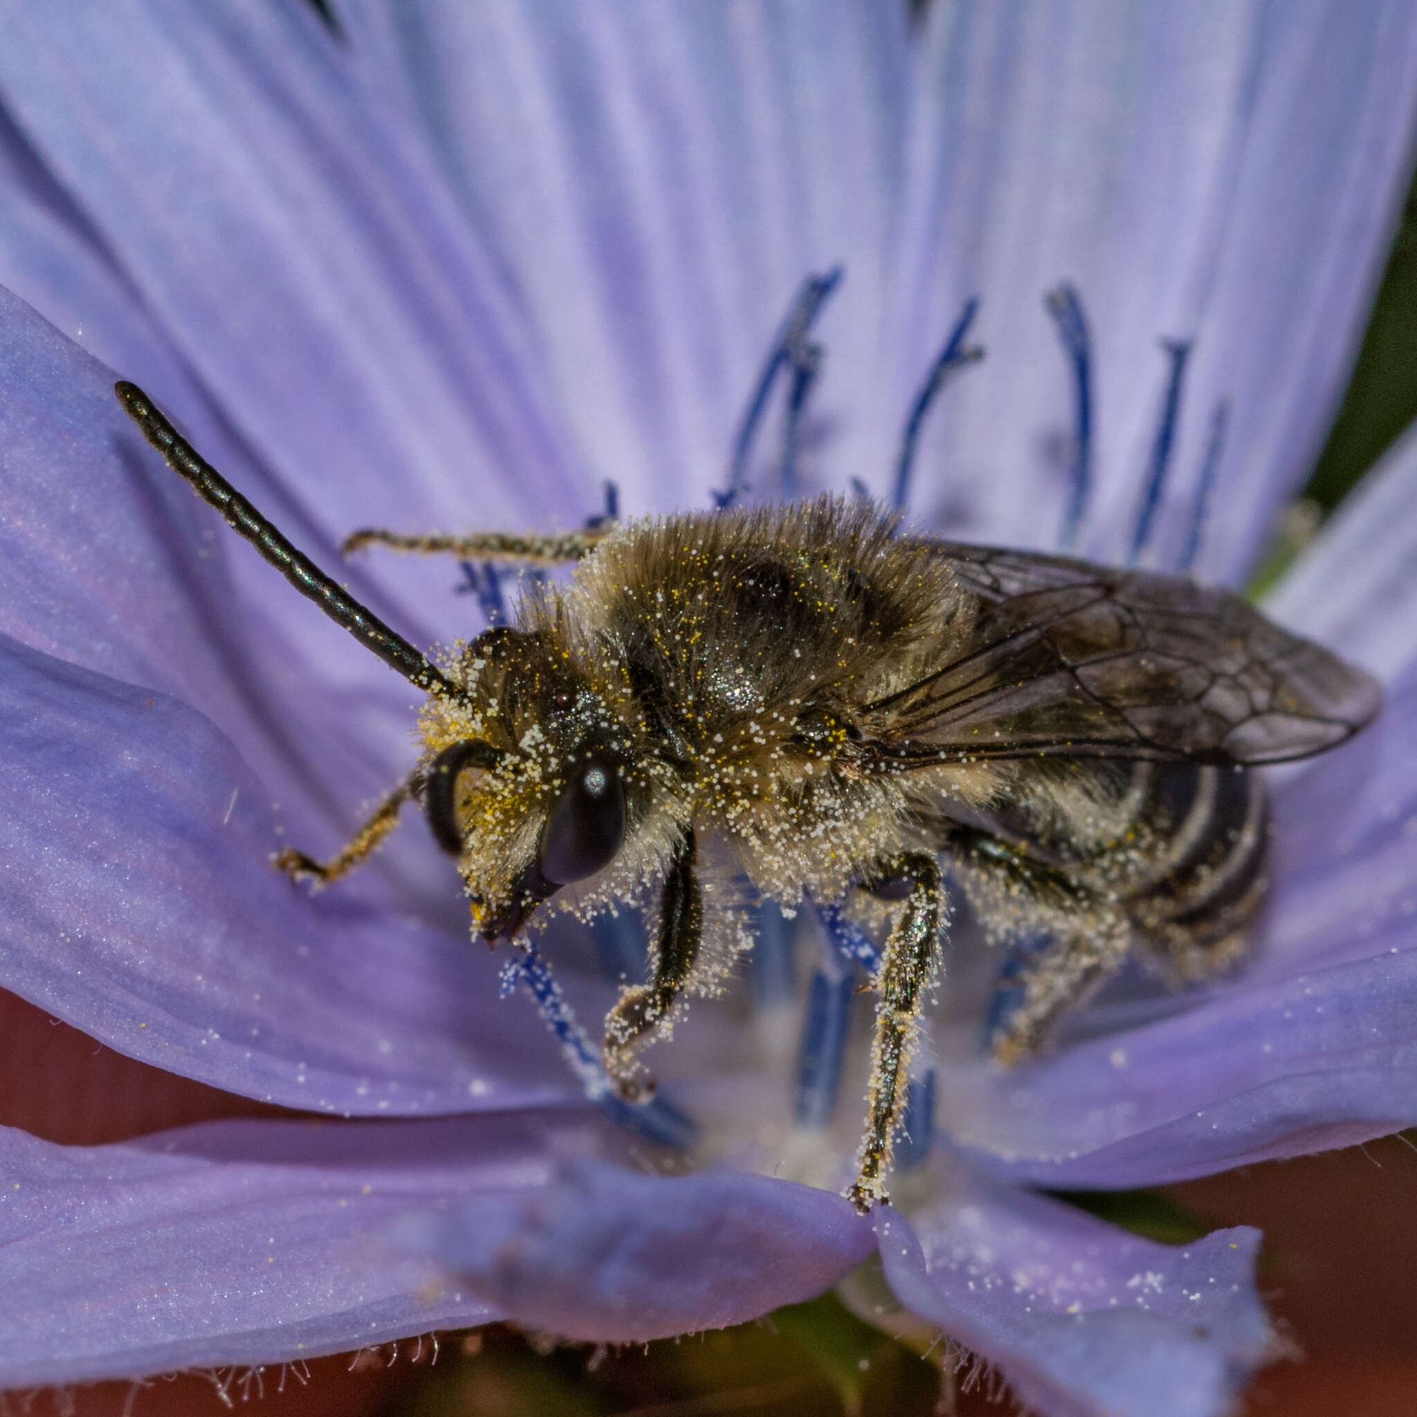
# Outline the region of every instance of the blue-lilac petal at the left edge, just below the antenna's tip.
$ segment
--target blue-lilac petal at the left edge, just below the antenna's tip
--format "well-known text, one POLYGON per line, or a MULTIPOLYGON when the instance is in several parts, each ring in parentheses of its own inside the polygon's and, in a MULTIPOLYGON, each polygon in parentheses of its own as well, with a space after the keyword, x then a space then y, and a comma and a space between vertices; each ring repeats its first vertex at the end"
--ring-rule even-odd
POLYGON ((108 370, 0 289, 0 631, 129 683, 224 706, 256 745, 204 513, 154 473, 108 370))

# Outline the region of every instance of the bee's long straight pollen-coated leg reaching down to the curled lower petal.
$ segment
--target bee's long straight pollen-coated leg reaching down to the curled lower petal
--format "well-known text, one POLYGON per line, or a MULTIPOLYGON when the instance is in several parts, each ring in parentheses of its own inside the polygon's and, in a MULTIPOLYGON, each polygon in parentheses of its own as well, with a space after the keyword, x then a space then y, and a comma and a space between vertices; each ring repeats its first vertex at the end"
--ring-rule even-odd
POLYGON ((939 962, 939 931, 945 924, 945 887, 939 863, 932 856, 901 856, 888 863, 881 879, 891 884, 908 881, 910 893, 876 973, 880 1003, 871 1041, 871 1083, 866 1094, 869 1119, 857 1155, 856 1180, 846 1192, 846 1199, 863 1216, 888 1199, 886 1175, 905 1105, 903 1084, 920 1033, 924 993, 939 962))

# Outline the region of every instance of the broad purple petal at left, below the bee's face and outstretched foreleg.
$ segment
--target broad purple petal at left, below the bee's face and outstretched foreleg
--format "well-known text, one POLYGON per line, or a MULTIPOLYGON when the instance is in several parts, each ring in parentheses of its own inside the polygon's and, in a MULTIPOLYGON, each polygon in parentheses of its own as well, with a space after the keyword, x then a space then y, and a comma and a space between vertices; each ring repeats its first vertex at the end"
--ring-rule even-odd
POLYGON ((231 744, 174 699, 0 639, 0 983, 111 1047, 289 1107, 463 1111, 574 1083, 486 949, 317 901, 231 744))

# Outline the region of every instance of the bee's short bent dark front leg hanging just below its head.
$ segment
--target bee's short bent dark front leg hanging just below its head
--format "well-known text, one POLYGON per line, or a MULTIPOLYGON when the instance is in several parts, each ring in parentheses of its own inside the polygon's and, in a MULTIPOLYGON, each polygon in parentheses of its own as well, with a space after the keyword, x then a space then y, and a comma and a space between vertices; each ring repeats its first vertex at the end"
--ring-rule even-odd
POLYGON ((670 1017, 699 958, 704 910, 703 891, 694 874, 696 854, 690 828, 684 830, 665 879, 659 941, 653 954, 655 978, 648 985, 626 985, 605 1017, 605 1071, 626 1101, 636 1101, 645 1091, 633 1077, 636 1047, 670 1017))

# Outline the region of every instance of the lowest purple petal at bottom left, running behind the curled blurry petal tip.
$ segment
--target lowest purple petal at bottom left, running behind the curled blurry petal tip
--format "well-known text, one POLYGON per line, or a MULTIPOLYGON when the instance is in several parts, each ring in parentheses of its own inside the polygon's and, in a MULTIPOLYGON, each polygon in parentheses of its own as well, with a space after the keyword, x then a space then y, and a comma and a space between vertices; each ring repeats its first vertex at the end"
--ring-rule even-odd
POLYGON ((543 1183, 547 1135, 524 1117, 217 1122, 94 1148, 3 1129, 0 1384, 279 1363, 499 1318, 381 1237, 410 1209, 543 1183))

